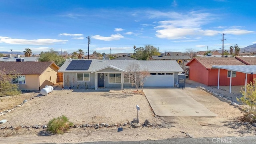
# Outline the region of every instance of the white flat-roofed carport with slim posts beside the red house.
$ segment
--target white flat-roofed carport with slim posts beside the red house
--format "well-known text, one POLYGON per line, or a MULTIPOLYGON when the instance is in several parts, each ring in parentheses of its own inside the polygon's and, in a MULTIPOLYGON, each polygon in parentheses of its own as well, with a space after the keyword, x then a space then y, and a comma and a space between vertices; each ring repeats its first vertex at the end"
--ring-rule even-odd
POLYGON ((212 66, 212 68, 218 68, 218 89, 220 86, 220 69, 230 70, 230 86, 229 86, 229 93, 231 93, 231 84, 232 84, 232 71, 242 72, 245 75, 245 84, 244 84, 244 91, 246 93, 246 84, 247 84, 247 74, 256 74, 256 65, 233 65, 233 66, 212 66))

